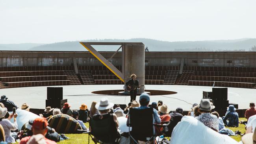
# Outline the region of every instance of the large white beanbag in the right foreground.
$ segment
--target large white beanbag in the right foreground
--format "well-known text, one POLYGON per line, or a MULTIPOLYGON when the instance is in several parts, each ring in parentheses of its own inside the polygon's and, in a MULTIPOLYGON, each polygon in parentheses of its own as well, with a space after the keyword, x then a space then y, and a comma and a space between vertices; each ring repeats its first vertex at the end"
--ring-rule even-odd
POLYGON ((173 129, 171 144, 238 144, 238 142, 205 126, 193 116, 183 116, 173 129))

